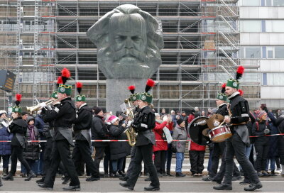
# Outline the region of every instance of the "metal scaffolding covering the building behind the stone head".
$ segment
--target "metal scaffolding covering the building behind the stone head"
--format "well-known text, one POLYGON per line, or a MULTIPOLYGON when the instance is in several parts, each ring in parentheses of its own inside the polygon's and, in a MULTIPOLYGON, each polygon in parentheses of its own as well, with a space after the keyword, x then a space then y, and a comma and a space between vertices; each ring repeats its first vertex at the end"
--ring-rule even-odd
MULTIPOLYGON (((70 70, 72 84, 84 84, 90 106, 105 106, 106 78, 85 33, 121 4, 134 4, 162 21, 163 63, 152 77, 155 108, 215 106, 221 82, 241 63, 236 0, 0 0, 0 63, 18 75, 15 92, 23 94, 23 106, 48 99, 63 67, 70 70)), ((248 69, 242 89, 253 107, 260 98, 259 65, 242 65, 248 69)), ((4 92, 1 96, 6 99, 4 92)))

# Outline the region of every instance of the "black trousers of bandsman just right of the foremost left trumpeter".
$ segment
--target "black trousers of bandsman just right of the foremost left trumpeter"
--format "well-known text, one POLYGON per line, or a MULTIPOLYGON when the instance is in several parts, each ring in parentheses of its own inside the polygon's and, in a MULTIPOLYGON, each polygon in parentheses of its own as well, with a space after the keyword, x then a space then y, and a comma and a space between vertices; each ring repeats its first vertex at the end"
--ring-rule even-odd
POLYGON ((81 159, 84 160, 89 172, 94 175, 96 173, 95 166, 89 149, 89 142, 87 140, 76 140, 72 155, 74 162, 80 162, 81 159))

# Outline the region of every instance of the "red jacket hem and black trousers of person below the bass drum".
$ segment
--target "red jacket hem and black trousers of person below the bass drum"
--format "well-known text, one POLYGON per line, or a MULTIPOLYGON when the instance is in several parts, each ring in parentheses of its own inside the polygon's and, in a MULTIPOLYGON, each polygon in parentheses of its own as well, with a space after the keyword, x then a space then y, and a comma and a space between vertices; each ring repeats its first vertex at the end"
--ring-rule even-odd
POLYGON ((193 176, 202 176, 206 146, 198 145, 197 143, 190 141, 188 147, 190 149, 190 172, 192 172, 193 176))

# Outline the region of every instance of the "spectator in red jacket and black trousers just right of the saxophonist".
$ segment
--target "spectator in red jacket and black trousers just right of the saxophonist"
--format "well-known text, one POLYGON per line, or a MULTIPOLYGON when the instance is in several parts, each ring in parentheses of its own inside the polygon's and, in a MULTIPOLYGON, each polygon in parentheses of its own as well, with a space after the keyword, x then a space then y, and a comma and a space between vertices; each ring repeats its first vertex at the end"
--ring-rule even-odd
MULTIPOLYGON (((164 140, 163 128, 167 127, 170 131, 173 130, 173 122, 165 116, 164 120, 160 119, 160 114, 155 114, 155 140, 164 140)), ((155 155, 154 164, 158 172, 158 177, 165 176, 165 151, 168 150, 167 141, 156 141, 153 145, 153 153, 155 155)))

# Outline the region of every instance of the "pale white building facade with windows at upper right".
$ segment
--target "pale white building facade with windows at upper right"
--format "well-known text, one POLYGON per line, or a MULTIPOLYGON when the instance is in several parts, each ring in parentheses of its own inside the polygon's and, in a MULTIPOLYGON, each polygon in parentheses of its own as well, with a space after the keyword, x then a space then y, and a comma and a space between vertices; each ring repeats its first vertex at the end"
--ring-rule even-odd
POLYGON ((240 57, 257 63, 261 101, 284 109, 284 0, 240 0, 240 57))

